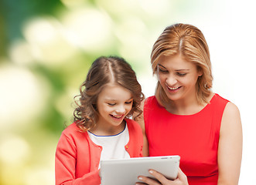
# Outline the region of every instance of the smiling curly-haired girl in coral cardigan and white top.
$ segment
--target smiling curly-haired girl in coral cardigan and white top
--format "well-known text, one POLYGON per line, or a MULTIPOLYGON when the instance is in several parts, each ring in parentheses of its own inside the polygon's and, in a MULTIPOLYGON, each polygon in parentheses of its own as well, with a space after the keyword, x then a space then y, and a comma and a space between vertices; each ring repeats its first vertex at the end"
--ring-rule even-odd
POLYGON ((100 184, 101 160, 142 156, 142 130, 129 117, 142 113, 144 95, 124 59, 96 59, 79 96, 56 147, 56 184, 100 184))

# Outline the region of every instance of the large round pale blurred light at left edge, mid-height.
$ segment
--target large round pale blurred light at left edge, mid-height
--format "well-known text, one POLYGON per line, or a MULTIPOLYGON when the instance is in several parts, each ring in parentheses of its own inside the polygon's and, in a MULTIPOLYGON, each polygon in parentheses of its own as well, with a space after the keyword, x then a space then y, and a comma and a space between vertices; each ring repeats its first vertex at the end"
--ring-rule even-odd
POLYGON ((29 127, 33 117, 46 106, 46 84, 29 69, 6 64, 0 68, 0 86, 0 128, 29 127))

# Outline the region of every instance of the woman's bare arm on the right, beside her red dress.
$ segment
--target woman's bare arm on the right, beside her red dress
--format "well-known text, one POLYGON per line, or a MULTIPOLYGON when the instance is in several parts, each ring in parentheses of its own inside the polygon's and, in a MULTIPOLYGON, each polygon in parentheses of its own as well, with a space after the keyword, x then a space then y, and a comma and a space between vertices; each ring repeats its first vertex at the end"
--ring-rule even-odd
POLYGON ((220 126, 218 185, 238 184, 242 158, 242 126, 239 109, 227 103, 220 126))

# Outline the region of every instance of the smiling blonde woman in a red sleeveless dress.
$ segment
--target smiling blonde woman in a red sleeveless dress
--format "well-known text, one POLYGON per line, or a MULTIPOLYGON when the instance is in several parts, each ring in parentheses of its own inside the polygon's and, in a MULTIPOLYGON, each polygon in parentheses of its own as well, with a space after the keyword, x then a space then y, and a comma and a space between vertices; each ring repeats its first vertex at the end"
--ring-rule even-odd
MULTIPOLYGON (((179 155, 177 180, 150 172, 148 184, 237 184, 242 156, 242 128, 234 103, 213 93, 210 52, 193 25, 167 27, 151 55, 158 78, 155 96, 144 103, 144 156, 179 155), (186 174, 186 176, 184 175, 186 174)), ((139 184, 139 183, 138 183, 139 184)))

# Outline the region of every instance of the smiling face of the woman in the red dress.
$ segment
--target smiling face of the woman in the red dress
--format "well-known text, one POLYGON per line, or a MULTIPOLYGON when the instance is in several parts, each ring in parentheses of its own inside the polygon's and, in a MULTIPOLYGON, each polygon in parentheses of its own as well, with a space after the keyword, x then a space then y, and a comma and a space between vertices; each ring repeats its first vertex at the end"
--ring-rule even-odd
POLYGON ((187 62, 181 55, 161 55, 157 66, 159 82, 172 101, 196 98, 196 81, 202 72, 196 65, 187 62))

